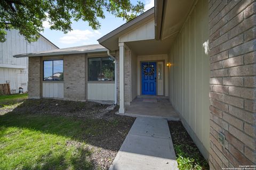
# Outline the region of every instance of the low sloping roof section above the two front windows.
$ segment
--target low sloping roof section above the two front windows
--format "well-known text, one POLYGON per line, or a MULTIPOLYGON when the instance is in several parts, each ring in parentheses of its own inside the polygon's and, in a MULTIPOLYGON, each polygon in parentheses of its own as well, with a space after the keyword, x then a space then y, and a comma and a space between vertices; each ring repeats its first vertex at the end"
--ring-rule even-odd
POLYGON ((95 52, 107 52, 108 49, 105 47, 94 44, 94 45, 86 45, 86 46, 78 46, 78 47, 69 47, 69 48, 61 48, 61 49, 52 49, 44 52, 38 53, 28 53, 28 54, 17 54, 13 57, 35 57, 35 56, 49 56, 49 55, 63 55, 63 54, 78 54, 78 53, 95 53, 95 52))

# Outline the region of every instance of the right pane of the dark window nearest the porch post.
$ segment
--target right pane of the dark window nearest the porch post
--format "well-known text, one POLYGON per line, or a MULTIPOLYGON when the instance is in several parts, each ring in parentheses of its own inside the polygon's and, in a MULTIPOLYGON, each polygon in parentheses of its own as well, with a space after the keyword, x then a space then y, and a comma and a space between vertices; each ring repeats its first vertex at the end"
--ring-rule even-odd
POLYGON ((102 81, 115 80, 115 63, 110 57, 101 60, 102 81))

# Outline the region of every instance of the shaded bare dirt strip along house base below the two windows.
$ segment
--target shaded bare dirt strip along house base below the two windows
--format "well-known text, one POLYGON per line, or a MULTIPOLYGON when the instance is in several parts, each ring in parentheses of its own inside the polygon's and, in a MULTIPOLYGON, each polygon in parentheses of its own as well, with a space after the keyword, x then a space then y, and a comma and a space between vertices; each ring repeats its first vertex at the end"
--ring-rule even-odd
POLYGON ((91 101, 66 101, 56 99, 27 99, 22 107, 17 107, 19 112, 34 114, 61 115, 79 118, 112 118, 111 111, 107 110, 110 105, 91 101), (107 116, 108 115, 108 116, 107 116))

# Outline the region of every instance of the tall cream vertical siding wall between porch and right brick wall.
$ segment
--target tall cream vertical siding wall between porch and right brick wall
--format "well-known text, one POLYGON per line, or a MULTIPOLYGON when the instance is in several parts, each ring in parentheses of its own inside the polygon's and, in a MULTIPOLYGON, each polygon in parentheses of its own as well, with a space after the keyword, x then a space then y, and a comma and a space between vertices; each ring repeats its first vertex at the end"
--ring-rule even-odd
POLYGON ((204 148, 210 149, 210 64, 203 44, 208 37, 207 2, 201 0, 175 39, 169 54, 173 64, 169 69, 170 100, 195 133, 196 137, 191 137, 205 157, 204 148))

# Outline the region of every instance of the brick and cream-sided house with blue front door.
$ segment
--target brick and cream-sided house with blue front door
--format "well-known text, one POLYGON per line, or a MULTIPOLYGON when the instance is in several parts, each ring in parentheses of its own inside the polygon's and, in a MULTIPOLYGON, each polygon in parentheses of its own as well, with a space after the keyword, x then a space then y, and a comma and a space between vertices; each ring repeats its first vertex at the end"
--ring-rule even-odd
POLYGON ((14 57, 29 57, 30 98, 106 101, 126 114, 141 96, 167 97, 211 169, 254 165, 255 12, 252 1, 159 0, 100 45, 14 57), (43 81, 55 72, 62 81, 43 81))

